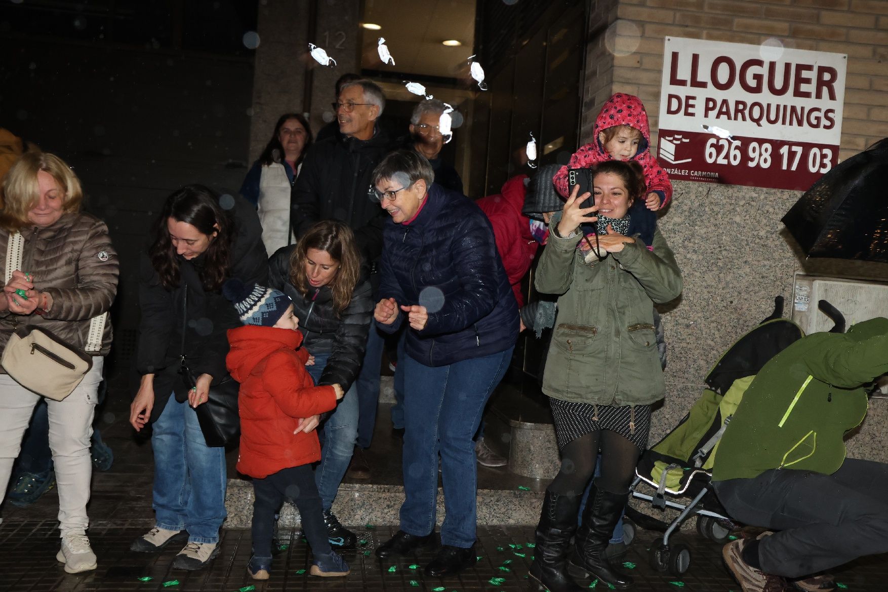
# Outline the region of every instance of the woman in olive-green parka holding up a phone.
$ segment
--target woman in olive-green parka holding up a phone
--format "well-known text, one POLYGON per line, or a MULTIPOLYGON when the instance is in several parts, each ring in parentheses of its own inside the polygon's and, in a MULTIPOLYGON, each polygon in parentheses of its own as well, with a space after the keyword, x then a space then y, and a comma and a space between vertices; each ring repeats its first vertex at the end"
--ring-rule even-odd
MULTIPOLYGON (((551 217, 536 267, 539 292, 557 294, 558 314, 543 372, 561 452, 561 468, 546 489, 536 528, 530 577, 550 592, 579 592, 570 566, 612 588, 632 579, 608 563, 607 542, 622 516, 638 456, 647 446, 651 404, 665 390, 654 335, 654 303, 682 289, 675 255, 659 230, 648 245, 646 228, 630 213, 646 192, 641 166, 609 160, 592 169, 595 203, 579 186, 551 217), (581 227, 595 223, 595 234, 581 227), (591 260, 577 248, 588 241, 591 260), (592 480, 601 452, 600 475, 592 480), (583 491, 591 483, 576 516, 583 491)), ((644 220, 642 220, 644 221, 644 220)))

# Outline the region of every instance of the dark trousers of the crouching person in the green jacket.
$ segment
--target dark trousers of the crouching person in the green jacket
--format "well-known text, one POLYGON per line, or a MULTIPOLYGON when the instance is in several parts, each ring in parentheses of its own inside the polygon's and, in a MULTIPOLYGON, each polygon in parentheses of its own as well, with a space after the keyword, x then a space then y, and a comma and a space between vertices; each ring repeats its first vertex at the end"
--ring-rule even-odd
POLYGON ((888 464, 845 459, 832 475, 788 468, 713 483, 733 518, 771 529, 762 571, 798 578, 888 552, 888 464))

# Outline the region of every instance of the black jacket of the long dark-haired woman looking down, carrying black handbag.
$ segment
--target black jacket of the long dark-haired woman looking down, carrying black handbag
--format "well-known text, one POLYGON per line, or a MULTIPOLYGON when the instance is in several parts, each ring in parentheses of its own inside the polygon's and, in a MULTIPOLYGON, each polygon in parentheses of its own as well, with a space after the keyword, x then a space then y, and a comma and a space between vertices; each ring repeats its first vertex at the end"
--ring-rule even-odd
MULTIPOLYGON (((235 199, 236 235, 227 277, 236 277, 244 284, 266 284, 268 260, 256 208, 242 197, 235 199)), ((203 290, 200 279, 202 264, 202 255, 193 260, 179 258, 179 285, 167 290, 152 267, 147 252, 141 255, 139 308, 142 317, 139 322, 136 369, 139 375, 155 374, 155 406, 151 421, 160 417, 170 393, 175 391, 179 402, 187 398, 187 386, 178 374, 183 325, 187 324, 186 364, 194 376, 210 374, 213 384, 216 384, 228 373, 225 364, 228 355, 226 331, 240 326, 241 321, 232 303, 221 292, 203 290)))

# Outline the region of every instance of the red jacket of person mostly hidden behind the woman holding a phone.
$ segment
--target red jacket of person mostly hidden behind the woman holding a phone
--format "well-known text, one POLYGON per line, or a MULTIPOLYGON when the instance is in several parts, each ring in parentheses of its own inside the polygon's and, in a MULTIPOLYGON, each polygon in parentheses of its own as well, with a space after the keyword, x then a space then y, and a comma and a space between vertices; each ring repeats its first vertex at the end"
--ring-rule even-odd
POLYGON ((475 202, 494 227, 496 251, 503 260, 505 275, 509 278, 519 308, 524 306, 521 279, 530 269, 539 246, 530 234, 530 219, 521 213, 527 194, 525 179, 527 175, 516 175, 505 182, 500 195, 481 197, 475 202))

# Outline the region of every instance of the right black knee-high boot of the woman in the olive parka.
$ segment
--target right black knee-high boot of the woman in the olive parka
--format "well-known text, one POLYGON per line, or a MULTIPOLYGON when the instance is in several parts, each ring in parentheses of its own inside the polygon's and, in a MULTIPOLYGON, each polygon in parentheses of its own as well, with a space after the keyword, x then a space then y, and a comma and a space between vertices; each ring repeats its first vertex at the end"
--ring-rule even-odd
POLYGON ((615 572, 607 561, 607 541, 622 516, 629 500, 629 492, 606 492, 592 482, 589 499, 583 509, 583 524, 576 531, 574 553, 570 566, 585 575, 612 584, 615 588, 629 588, 632 578, 615 572))

